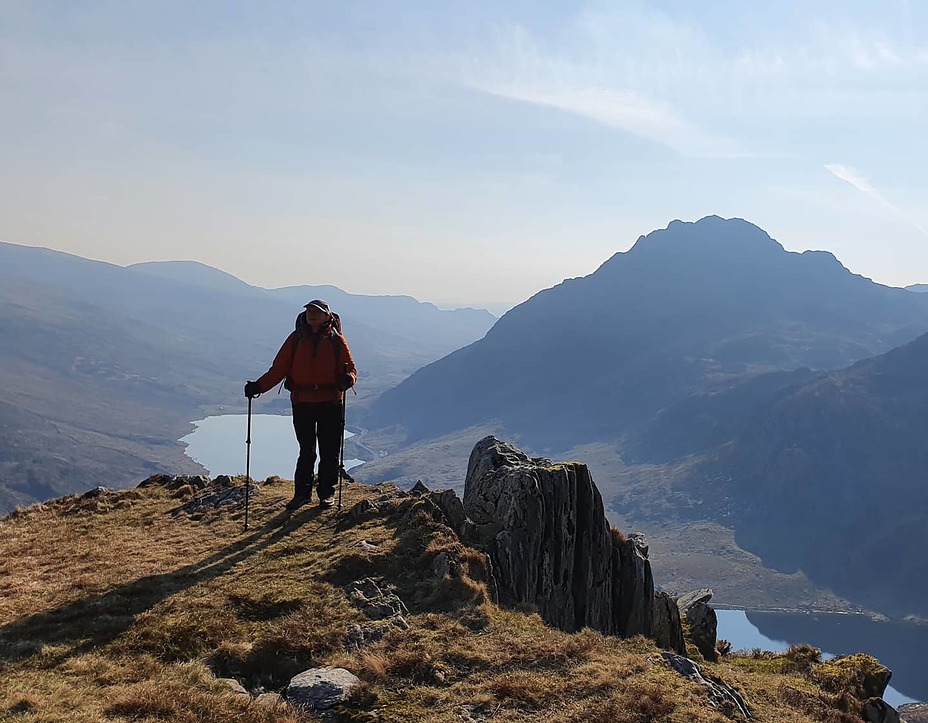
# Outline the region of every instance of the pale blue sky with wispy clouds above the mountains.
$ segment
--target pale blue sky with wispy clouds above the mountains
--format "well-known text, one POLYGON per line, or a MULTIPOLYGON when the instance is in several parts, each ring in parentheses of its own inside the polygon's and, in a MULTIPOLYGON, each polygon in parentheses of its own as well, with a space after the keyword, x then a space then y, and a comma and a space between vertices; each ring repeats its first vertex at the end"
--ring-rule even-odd
POLYGON ((0 241, 519 303, 674 219, 928 282, 924 0, 0 0, 0 241))

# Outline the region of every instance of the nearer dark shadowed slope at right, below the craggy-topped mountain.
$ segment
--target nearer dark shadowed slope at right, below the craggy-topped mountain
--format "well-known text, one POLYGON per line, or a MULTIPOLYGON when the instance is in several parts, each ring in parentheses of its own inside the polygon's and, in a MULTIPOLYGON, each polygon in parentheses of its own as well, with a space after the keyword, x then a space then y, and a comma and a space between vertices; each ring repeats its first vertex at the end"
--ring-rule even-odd
MULTIPOLYGON (((928 335, 836 372, 771 374, 667 409, 626 462, 690 467, 682 516, 724 522, 784 571, 928 617, 928 335), (687 512, 689 510, 689 512, 687 512)), ((638 506, 653 504, 647 480, 638 506)), ((623 504, 635 508, 636 494, 623 504)))

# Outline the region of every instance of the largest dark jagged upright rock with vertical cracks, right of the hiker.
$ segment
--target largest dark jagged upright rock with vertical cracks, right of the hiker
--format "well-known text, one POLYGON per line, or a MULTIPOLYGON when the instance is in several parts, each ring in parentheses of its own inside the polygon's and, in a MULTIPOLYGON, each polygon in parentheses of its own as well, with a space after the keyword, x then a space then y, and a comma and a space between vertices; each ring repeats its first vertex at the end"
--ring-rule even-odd
POLYGON ((562 630, 651 633, 647 545, 613 538, 586 465, 486 437, 471 452, 463 506, 475 529, 496 530, 486 549, 501 602, 532 604, 562 630))

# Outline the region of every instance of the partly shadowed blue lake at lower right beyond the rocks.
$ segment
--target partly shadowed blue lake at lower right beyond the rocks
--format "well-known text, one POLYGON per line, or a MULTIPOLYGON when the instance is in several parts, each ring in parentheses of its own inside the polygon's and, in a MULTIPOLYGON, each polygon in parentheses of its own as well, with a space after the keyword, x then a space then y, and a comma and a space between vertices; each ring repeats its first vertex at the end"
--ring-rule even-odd
POLYGON ((808 643, 823 658, 870 653, 893 671, 892 685, 883 699, 898 708, 928 700, 928 670, 923 662, 928 626, 877 622, 861 615, 806 613, 746 613, 716 610, 718 637, 732 650, 782 652, 790 645, 808 643))

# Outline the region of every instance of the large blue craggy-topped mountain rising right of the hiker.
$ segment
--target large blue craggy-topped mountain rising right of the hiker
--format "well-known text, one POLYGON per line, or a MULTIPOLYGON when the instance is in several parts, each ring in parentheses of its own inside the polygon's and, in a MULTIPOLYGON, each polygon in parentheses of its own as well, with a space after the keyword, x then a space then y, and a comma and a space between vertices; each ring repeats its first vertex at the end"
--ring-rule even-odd
POLYGON ((741 219, 672 222, 539 292, 486 337, 378 399, 411 440, 487 421, 536 445, 619 437, 688 394, 777 369, 833 369, 928 331, 928 296, 741 219))

